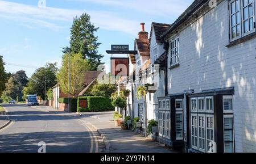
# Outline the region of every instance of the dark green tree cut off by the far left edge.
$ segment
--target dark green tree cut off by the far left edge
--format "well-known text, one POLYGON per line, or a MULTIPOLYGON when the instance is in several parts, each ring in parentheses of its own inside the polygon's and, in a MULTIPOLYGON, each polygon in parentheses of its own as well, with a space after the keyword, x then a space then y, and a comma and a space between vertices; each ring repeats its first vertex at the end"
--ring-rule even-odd
POLYGON ((3 62, 3 56, 0 55, 0 97, 6 88, 6 82, 10 78, 10 74, 5 71, 5 62, 3 62))

